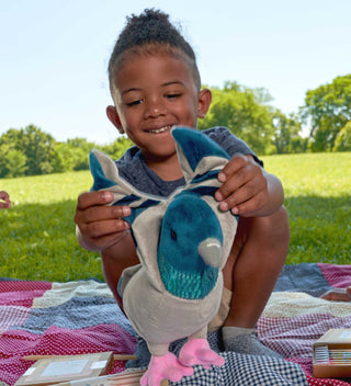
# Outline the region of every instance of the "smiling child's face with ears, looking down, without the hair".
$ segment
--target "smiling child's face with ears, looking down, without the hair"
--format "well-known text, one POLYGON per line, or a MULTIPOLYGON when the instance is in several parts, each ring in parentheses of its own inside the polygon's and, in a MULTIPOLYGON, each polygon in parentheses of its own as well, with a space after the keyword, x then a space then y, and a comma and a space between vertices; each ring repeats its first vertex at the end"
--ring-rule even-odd
POLYGON ((176 155, 173 125, 196 127, 211 103, 208 90, 197 91, 189 65, 169 55, 136 55, 115 76, 107 116, 149 158, 176 155))

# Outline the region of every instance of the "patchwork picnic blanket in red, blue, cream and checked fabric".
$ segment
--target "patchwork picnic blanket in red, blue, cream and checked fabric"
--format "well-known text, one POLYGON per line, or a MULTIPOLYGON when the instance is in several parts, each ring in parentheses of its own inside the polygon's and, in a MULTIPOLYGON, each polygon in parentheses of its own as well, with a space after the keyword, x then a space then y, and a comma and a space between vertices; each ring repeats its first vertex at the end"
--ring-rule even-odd
MULTIPOLYGON (((286 265, 258 322, 261 341, 284 360, 225 352, 225 366, 196 366, 193 376, 177 385, 350 385, 351 381, 312 376, 313 343, 330 328, 351 328, 351 303, 318 296, 347 285, 351 285, 351 265, 286 265)), ((12 386, 30 367, 32 362, 24 355, 132 354, 136 341, 105 283, 0 280, 1 386, 12 386)), ((218 333, 212 333, 210 341, 220 351, 218 333)), ((172 344, 177 353, 182 342, 172 344)), ((111 373, 125 368, 125 362, 115 361, 111 373)))

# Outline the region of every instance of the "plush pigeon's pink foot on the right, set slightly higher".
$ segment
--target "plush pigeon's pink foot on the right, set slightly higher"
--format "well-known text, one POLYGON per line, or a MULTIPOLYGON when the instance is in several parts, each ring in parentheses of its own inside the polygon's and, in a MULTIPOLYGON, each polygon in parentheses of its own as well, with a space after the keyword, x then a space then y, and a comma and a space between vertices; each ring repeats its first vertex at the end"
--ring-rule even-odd
POLYGON ((191 339, 181 349, 179 362, 184 366, 201 364, 210 368, 211 365, 223 366, 225 360, 210 348, 207 339, 191 339))

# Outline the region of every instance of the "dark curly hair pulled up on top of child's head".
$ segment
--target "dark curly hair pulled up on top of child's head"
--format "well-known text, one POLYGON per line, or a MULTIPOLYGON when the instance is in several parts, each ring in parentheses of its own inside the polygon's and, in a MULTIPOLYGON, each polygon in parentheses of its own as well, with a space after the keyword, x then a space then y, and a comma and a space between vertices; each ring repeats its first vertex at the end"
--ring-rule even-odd
POLYGON ((192 68, 196 87, 201 87, 196 57, 191 45, 171 24, 169 15, 154 9, 146 9, 140 15, 132 14, 121 32, 109 61, 109 80, 112 91, 115 72, 126 59, 126 54, 169 54, 181 57, 192 68))

